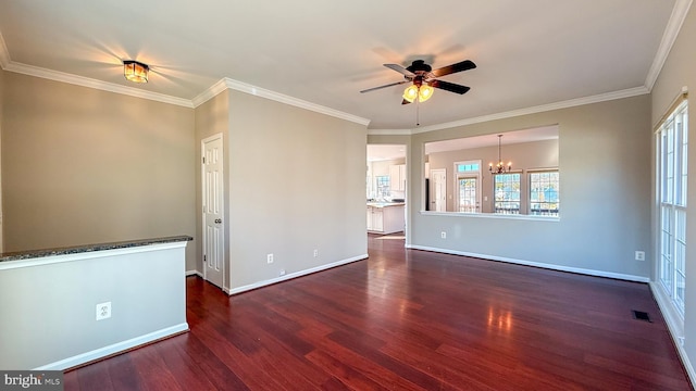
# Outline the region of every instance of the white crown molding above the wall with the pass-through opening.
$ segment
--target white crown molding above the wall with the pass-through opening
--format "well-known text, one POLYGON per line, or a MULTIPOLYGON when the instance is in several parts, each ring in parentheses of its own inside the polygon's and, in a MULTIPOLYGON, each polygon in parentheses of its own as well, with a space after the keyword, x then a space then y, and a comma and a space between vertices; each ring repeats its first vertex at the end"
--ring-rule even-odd
POLYGON ((606 101, 610 101, 610 100, 631 98, 631 97, 642 96, 642 94, 646 94, 646 93, 650 93, 650 91, 645 86, 635 87, 635 88, 629 88, 629 89, 624 89, 624 90, 620 90, 620 91, 600 93, 600 94, 596 94, 596 96, 592 96, 592 97, 570 99, 570 100, 561 101, 561 102, 542 104, 542 105, 526 108, 526 109, 520 109, 520 110, 512 110, 512 111, 504 112, 504 113, 483 115, 483 116, 478 116, 478 117, 467 118, 467 119, 461 119, 461 121, 455 121, 455 122, 445 123, 445 124, 436 124, 436 125, 423 126, 423 127, 420 127, 420 128, 412 129, 411 134, 415 135, 415 134, 433 131, 433 130, 449 129, 449 128, 453 128, 453 127, 458 127, 458 126, 480 124, 480 123, 485 123, 485 122, 489 122, 489 121, 505 119, 505 118, 511 118, 511 117, 521 116, 521 115, 529 115, 529 114, 548 112, 548 111, 552 111, 552 110, 560 110, 560 109, 574 108, 574 106, 580 106, 580 105, 585 105, 585 104, 606 102, 606 101))

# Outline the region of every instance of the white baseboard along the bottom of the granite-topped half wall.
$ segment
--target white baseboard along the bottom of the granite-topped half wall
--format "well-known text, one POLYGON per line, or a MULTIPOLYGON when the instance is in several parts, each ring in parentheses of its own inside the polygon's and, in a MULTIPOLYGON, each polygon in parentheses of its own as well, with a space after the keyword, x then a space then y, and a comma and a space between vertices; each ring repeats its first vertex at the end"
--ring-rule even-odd
POLYGON ((78 365, 89 363, 99 358, 108 357, 116 353, 125 352, 129 349, 137 348, 139 345, 144 345, 146 343, 150 343, 159 339, 174 336, 176 333, 187 331, 187 330, 188 330, 188 324, 183 323, 176 326, 167 327, 161 330, 147 333, 145 336, 132 338, 129 340, 122 341, 122 342, 116 342, 109 346, 99 348, 90 352, 82 353, 72 357, 57 361, 54 363, 46 364, 40 367, 34 368, 33 370, 63 370, 67 368, 73 368, 78 365))

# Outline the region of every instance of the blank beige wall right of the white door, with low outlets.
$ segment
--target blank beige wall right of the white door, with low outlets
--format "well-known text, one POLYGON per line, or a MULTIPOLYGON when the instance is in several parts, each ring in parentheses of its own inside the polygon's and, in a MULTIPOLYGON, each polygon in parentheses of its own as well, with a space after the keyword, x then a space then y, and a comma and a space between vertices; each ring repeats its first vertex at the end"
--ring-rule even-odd
POLYGON ((233 290, 366 255, 363 125, 231 91, 227 142, 233 290))

